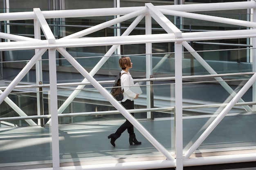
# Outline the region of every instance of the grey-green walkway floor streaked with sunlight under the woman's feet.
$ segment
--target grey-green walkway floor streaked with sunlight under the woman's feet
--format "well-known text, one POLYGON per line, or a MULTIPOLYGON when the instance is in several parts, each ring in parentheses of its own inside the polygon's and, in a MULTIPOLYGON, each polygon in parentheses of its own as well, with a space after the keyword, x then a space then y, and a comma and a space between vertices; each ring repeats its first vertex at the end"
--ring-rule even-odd
MULTIPOLYGON (((220 152, 256 149, 256 115, 226 116, 207 139, 195 151, 220 152)), ((211 123, 209 117, 184 117, 184 152, 211 123), (206 126, 207 127, 207 126, 206 126)), ((116 147, 110 144, 108 135, 115 132, 123 121, 106 121, 59 125, 59 146, 61 163, 120 160, 140 157, 163 157, 159 151, 137 130, 141 145, 129 145, 125 131, 117 139, 116 147)), ((171 154, 174 154, 174 121, 156 119, 140 121, 150 134, 171 154)), ((49 127, 0 128, 0 167, 51 163, 51 135, 49 127)))

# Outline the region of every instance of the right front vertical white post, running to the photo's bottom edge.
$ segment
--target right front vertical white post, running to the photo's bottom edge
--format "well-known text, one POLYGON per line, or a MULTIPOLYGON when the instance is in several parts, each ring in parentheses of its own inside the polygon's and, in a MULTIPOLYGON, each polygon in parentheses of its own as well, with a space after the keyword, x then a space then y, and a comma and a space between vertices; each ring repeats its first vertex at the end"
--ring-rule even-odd
POLYGON ((175 42, 175 145, 176 169, 183 170, 182 43, 175 42))

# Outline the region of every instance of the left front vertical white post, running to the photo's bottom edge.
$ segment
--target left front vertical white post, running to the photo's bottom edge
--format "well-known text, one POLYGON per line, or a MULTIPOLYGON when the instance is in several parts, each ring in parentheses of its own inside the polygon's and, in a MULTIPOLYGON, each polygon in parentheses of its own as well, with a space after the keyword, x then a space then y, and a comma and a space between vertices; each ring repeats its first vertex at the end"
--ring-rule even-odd
POLYGON ((56 49, 49 52, 49 79, 50 79, 50 114, 52 115, 52 166, 53 170, 60 167, 59 140, 58 140, 58 98, 56 76, 56 49))

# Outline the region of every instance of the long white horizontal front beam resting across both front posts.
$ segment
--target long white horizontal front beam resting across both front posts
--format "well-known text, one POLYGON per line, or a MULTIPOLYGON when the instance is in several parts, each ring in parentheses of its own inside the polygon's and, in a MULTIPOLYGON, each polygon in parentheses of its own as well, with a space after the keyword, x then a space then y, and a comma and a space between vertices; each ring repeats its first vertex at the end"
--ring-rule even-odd
POLYGON ((217 39, 220 40, 248 37, 256 37, 256 29, 182 33, 182 38, 175 38, 174 34, 152 34, 116 37, 57 39, 56 44, 54 45, 49 45, 47 40, 40 40, 38 42, 0 42, 0 51, 55 47, 92 47, 105 45, 127 45, 159 42, 180 42, 217 39))

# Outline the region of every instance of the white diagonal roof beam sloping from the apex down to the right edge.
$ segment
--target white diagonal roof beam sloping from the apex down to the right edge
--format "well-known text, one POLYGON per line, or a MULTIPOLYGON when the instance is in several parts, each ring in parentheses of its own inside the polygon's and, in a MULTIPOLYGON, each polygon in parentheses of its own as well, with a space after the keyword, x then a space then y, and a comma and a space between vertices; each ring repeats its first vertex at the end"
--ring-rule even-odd
POLYGON ((198 13, 189 13, 189 12, 174 11, 174 10, 168 10, 168 9, 159 9, 159 11, 161 11, 163 14, 171 15, 171 16, 180 16, 184 18, 219 22, 219 23, 239 25, 244 27, 256 27, 255 22, 249 22, 244 20, 236 20, 236 19, 224 18, 224 17, 218 17, 218 16, 208 16, 208 15, 203 15, 198 13))

